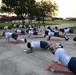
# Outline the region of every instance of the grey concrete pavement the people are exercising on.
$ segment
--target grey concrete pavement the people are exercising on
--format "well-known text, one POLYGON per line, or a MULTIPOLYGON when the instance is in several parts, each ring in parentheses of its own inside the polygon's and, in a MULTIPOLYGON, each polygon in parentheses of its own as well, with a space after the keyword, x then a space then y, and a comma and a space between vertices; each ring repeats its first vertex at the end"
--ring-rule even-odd
MULTIPOLYGON (((58 27, 71 27, 71 25, 57 25, 58 27)), ((52 26, 53 27, 53 26, 52 26)), ((73 45, 73 37, 76 34, 69 35, 70 40, 48 41, 51 43, 61 43, 70 56, 76 56, 76 46, 73 45)), ((26 37, 25 35, 20 36, 26 37)), ((27 37, 26 37, 27 38, 27 37)), ((12 40, 12 39, 11 39, 12 40)), ((46 38, 27 38, 28 41, 46 40, 46 38)), ((45 67, 53 59, 49 51, 34 50, 33 53, 26 54, 26 43, 5 44, 5 39, 0 39, 0 75, 63 75, 62 73, 52 73, 45 70, 45 67)))

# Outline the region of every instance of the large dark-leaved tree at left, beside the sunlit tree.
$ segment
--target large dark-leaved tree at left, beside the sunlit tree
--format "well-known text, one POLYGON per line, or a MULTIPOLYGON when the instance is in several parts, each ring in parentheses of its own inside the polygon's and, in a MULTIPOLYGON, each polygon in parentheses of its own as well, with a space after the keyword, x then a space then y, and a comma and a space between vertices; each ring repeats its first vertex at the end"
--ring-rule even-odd
MULTIPOLYGON (((2 0, 2 3, 5 6, 5 9, 9 8, 9 10, 11 10, 11 12, 14 12, 17 16, 22 16, 23 22, 24 16, 31 14, 31 9, 35 4, 35 0, 2 0)), ((3 5, 2 10, 6 12, 3 9, 3 5)), ((7 12, 9 11, 7 10, 7 12)))

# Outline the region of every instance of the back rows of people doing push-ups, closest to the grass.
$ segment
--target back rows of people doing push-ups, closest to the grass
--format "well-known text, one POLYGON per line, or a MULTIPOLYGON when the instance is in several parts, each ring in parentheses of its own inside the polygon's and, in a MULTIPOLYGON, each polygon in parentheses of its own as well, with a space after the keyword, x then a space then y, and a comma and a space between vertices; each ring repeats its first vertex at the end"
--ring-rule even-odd
MULTIPOLYGON (((22 27, 23 28, 23 27, 22 27)), ((23 30, 22 28, 17 28, 14 30, 14 34, 21 34, 21 35, 28 35, 28 38, 31 37, 31 35, 36 36, 37 38, 45 38, 47 36, 47 40, 61 40, 59 37, 64 38, 66 41, 69 40, 69 37, 66 35, 67 33, 74 33, 74 30, 71 28, 58 28, 55 27, 56 30, 52 29, 50 26, 45 26, 43 32, 39 32, 38 30, 41 29, 38 28, 36 25, 34 26, 26 26, 26 30, 23 30), (61 32, 59 32, 61 31, 61 32), (53 38, 58 37, 59 39, 53 38)), ((11 29, 9 26, 5 26, 4 30, 11 29)), ((3 31, 4 33, 4 31, 3 31)), ((7 32, 6 32, 7 33, 7 32)), ((75 41, 75 40, 73 40, 75 41)))

